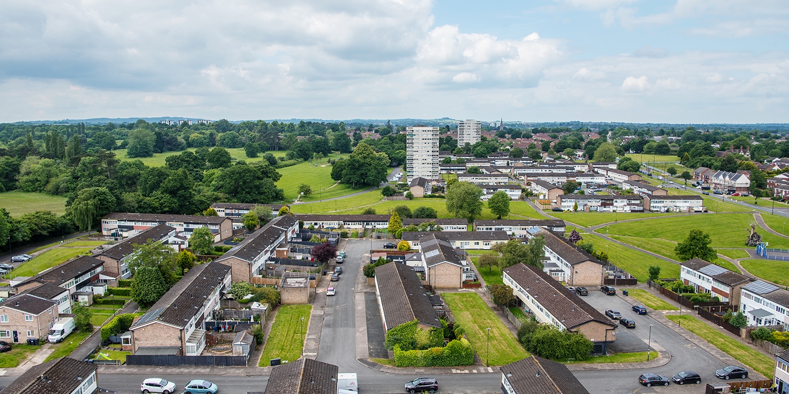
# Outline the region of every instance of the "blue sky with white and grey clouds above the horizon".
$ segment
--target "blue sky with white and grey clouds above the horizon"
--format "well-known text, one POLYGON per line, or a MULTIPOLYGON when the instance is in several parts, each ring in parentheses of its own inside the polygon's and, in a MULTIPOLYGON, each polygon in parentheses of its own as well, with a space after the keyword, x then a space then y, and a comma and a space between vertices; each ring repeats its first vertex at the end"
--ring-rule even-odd
POLYGON ((0 121, 789 122, 786 0, 9 0, 0 121))

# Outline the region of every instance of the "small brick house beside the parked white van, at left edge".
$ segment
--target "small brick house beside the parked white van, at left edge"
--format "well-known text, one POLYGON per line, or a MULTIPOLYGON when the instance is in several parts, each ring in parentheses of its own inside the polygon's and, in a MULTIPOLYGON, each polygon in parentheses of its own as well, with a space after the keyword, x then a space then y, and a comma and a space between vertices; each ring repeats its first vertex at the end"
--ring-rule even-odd
POLYGON ((0 303, 0 340, 14 344, 28 338, 44 340, 58 316, 58 304, 51 299, 13 296, 0 303))

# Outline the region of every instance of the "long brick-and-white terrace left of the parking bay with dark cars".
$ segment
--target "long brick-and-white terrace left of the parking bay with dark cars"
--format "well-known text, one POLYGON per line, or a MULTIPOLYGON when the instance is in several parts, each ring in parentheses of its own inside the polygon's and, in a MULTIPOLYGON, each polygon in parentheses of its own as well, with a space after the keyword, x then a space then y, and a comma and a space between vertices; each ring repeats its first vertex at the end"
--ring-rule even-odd
POLYGON ((504 269, 503 281, 537 322, 555 325, 568 333, 584 334, 594 344, 596 354, 605 354, 608 344, 616 340, 615 322, 542 269, 519 262, 504 269))

